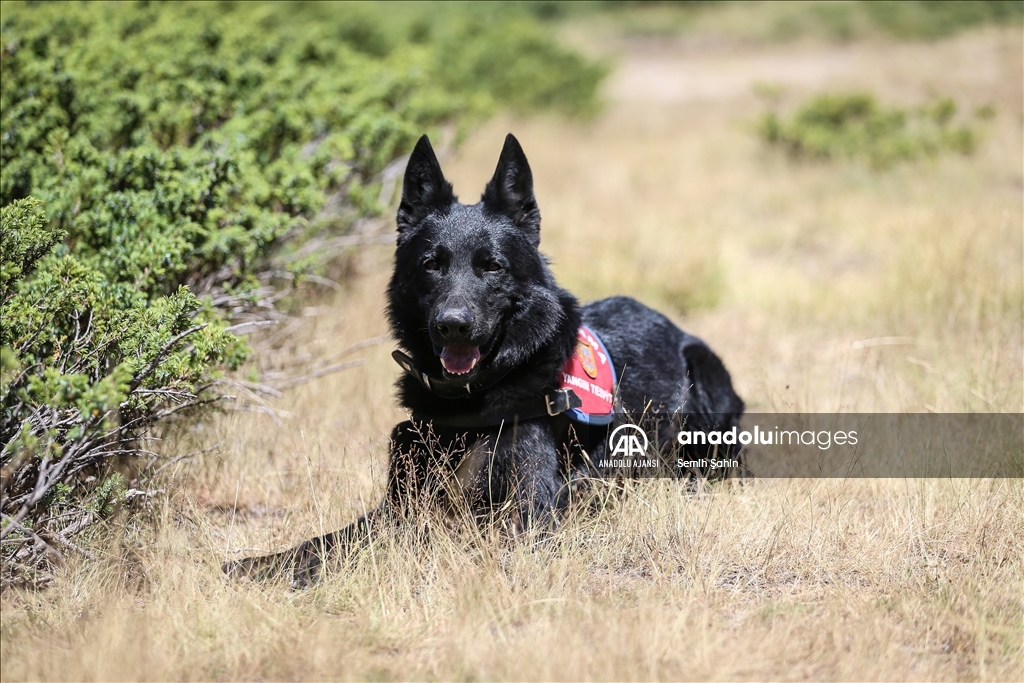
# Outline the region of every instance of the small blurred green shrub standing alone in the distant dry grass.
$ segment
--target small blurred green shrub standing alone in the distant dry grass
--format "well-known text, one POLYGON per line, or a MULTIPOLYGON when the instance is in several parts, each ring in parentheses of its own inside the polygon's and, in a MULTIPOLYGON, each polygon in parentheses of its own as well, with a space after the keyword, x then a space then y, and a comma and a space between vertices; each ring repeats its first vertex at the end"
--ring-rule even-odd
POLYGON ((956 103, 948 97, 904 110, 883 106, 864 93, 823 94, 790 118, 764 113, 757 131, 766 143, 795 158, 863 159, 874 168, 886 168, 947 151, 972 154, 978 144, 977 127, 956 124, 955 116, 956 103))

